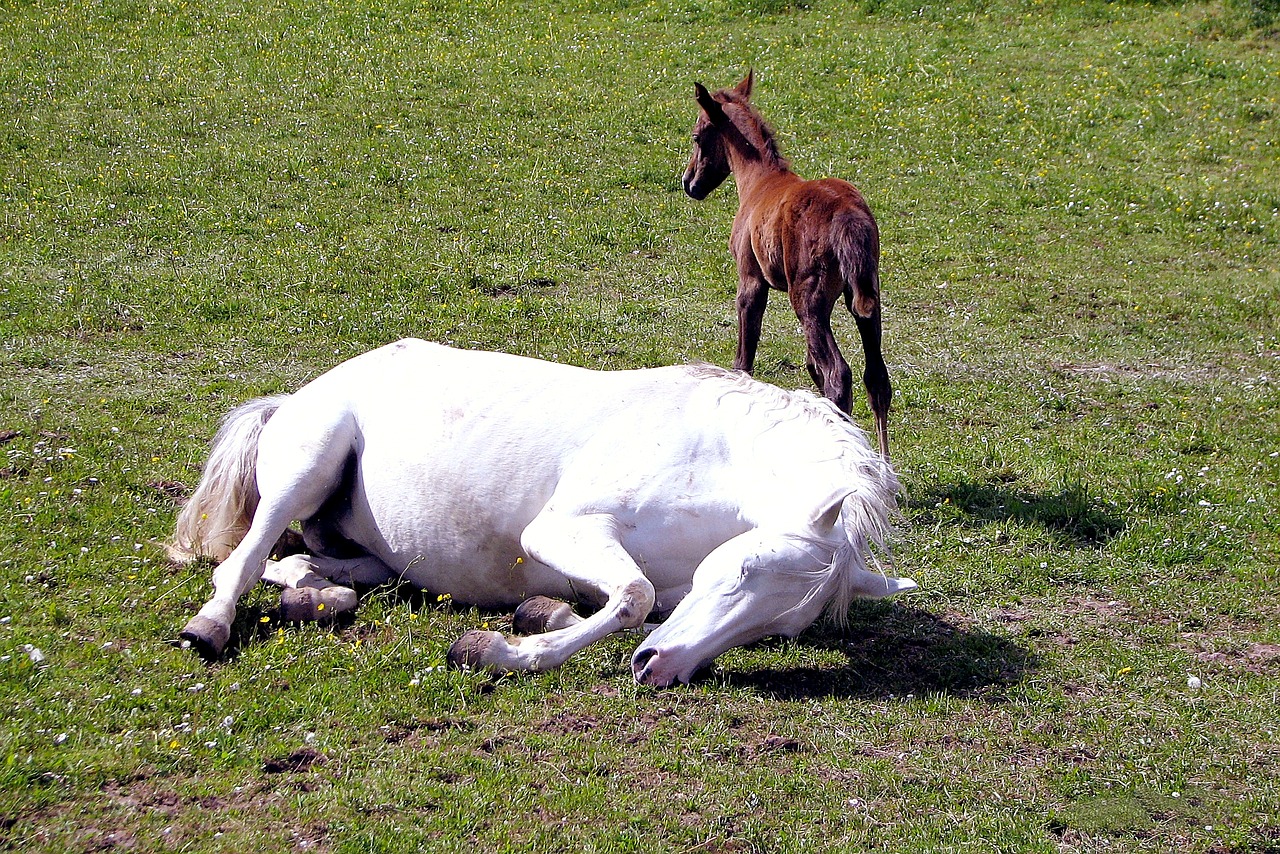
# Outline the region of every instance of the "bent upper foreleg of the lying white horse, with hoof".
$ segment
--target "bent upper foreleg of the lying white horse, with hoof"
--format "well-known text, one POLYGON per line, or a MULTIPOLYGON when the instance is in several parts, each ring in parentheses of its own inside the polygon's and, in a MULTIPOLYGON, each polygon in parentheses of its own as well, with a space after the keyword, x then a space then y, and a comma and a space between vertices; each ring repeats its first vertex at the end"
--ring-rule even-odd
POLYGON ((608 515, 563 516, 543 512, 525 529, 529 556, 559 571, 577 589, 607 599, 603 608, 566 629, 527 638, 497 631, 468 631, 449 650, 456 667, 541 671, 616 631, 644 622, 653 609, 653 584, 622 548, 617 522, 608 515))

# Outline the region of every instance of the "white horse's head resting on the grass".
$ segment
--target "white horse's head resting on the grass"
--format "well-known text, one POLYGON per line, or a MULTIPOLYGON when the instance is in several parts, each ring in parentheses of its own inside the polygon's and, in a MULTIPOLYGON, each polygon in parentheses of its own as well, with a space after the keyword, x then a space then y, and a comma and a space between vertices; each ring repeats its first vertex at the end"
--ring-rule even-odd
POLYGON ((631 672, 643 685, 689 682, 721 653, 771 635, 795 636, 832 606, 844 620, 854 597, 879 598, 915 588, 867 568, 865 536, 845 525, 826 536, 750 530, 708 554, 692 588, 640 644, 631 672))

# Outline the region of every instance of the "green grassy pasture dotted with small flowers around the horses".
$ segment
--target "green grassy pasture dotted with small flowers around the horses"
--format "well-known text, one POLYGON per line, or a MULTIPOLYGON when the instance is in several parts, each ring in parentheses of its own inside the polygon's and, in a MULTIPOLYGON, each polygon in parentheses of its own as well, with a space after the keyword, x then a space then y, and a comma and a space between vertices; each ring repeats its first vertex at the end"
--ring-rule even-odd
MULTIPOLYGON (((0 848, 1280 851, 1276 18, 6 0, 0 848), (662 691, 634 636, 448 671, 509 615, 385 588, 177 649, 209 567, 160 543, 234 405, 404 335, 732 361, 736 197, 680 174, 749 65, 879 222, 920 589, 662 691)), ((774 294, 758 376, 803 346, 774 294)))

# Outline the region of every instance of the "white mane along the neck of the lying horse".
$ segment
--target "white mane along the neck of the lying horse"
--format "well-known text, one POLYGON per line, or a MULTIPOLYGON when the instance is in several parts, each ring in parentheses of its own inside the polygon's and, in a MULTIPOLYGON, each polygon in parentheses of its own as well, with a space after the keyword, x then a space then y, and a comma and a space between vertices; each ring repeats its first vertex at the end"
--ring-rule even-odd
MULTIPOLYGON (((769 426, 795 425, 817 429, 835 440, 845 467, 849 494, 841 507, 844 536, 831 563, 815 562, 813 567, 796 566, 803 575, 823 575, 803 604, 815 597, 827 597, 827 613, 840 625, 849 618, 849 608, 865 588, 867 575, 886 577, 883 562, 891 561, 888 534, 897 516, 897 476, 890 463, 872 449, 867 434, 846 414, 824 397, 805 391, 786 391, 758 382, 742 371, 716 365, 691 364, 690 373, 699 378, 717 378, 727 392, 746 394, 753 403, 750 412, 768 421, 769 426)), ((792 534, 796 539, 813 539, 792 534)), ((886 579, 887 584, 887 579, 886 579)))

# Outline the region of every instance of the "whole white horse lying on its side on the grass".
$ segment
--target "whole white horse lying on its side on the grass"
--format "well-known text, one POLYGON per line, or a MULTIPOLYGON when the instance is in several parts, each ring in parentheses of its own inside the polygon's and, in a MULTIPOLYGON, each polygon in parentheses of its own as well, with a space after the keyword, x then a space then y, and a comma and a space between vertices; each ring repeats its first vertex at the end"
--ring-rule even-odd
POLYGON ((209 556, 214 597, 182 632, 219 656, 260 579, 287 618, 402 579, 517 611, 456 666, 541 671, 666 620, 636 681, 687 682, 823 608, 915 588, 878 571, 897 480, 827 401, 705 365, 591 371, 407 339, 223 421, 170 552, 209 556), (292 521, 310 554, 269 560, 292 521), (874 568, 872 568, 874 567, 874 568), (547 597, 598 606, 590 617, 547 597))

